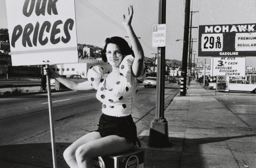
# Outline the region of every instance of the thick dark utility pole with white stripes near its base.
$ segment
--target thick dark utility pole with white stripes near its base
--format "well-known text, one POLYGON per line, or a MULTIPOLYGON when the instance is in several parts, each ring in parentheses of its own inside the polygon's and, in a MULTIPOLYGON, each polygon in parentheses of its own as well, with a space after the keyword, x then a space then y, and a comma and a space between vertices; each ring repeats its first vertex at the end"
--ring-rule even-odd
POLYGON ((190 0, 185 3, 185 22, 184 22, 184 36, 183 36, 183 52, 182 52, 182 70, 180 82, 180 96, 186 96, 187 84, 187 53, 188 53, 188 34, 189 34, 189 9, 190 0))

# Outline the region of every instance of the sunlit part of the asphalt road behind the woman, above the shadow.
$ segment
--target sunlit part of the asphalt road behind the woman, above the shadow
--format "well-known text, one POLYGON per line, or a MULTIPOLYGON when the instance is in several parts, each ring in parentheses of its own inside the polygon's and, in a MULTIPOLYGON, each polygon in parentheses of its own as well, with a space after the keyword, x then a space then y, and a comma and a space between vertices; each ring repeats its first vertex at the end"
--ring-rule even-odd
MULTIPOLYGON (((154 118, 156 89, 140 85, 133 100, 133 118, 138 133, 149 127, 154 118), (153 114, 153 115, 152 115, 153 114), (142 120, 147 119, 148 125, 142 120)), ((167 107, 177 95, 179 85, 172 83, 165 89, 167 107)), ((97 128, 101 103, 96 91, 65 91, 52 93, 53 124, 56 142, 74 142, 75 139, 97 128), (74 129, 75 128, 75 129, 74 129), (72 136, 69 136, 72 134, 72 136)), ((6 97, 0 99, 0 144, 49 143, 49 114, 47 94, 6 97)))

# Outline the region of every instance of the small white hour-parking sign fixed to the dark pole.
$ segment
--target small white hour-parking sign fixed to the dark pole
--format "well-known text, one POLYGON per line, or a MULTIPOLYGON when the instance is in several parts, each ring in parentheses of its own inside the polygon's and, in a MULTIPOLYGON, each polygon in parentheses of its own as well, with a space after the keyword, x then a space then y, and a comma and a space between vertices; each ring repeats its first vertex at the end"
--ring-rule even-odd
POLYGON ((152 46, 165 47, 165 41, 166 41, 166 25, 165 24, 153 25, 152 46))

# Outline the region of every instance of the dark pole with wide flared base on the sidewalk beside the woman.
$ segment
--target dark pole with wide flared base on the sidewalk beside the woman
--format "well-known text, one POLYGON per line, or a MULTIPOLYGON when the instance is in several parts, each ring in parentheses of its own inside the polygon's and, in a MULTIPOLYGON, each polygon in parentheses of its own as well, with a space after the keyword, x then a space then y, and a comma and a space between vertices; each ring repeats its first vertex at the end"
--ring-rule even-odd
MULTIPOLYGON (((159 0, 158 23, 165 24, 166 0, 159 0)), ((150 147, 167 147, 168 140, 168 123, 164 118, 164 72, 165 72, 165 46, 157 48, 157 101, 156 116, 151 121, 150 137, 148 146, 150 147)))

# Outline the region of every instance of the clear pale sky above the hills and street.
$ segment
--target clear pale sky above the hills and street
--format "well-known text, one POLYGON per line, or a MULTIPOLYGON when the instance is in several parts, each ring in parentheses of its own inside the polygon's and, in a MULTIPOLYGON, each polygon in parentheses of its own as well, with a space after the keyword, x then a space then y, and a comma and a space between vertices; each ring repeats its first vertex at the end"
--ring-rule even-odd
MULTIPOLYGON (((0 28, 8 28, 5 1, 0 0, 0 28)), ((122 15, 127 14, 129 5, 134 7, 132 26, 144 54, 154 57, 157 48, 152 47, 152 27, 158 24, 158 0, 75 0, 77 42, 103 47, 105 38, 112 36, 123 37, 129 42, 122 27, 122 15)), ((176 40, 183 39, 184 9, 185 0, 166 0, 166 59, 182 61, 183 41, 176 40)), ((195 12, 193 26, 256 23, 255 0, 191 0, 190 11, 195 12)), ((198 29, 192 30, 191 36, 197 41, 198 29)), ((193 43, 193 49, 195 63, 205 59, 209 63, 210 57, 197 56, 197 42, 193 43)), ((256 67, 256 55, 246 57, 246 66, 256 67)))

